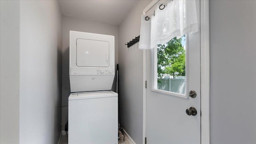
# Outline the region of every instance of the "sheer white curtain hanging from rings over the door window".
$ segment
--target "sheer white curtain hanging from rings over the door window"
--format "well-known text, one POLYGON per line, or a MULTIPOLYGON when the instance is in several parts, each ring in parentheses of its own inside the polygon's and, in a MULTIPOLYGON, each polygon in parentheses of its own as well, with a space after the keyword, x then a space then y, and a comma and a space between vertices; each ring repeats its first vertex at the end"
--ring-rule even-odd
POLYGON ((139 49, 152 49, 174 37, 198 31, 195 0, 170 0, 163 10, 160 5, 148 21, 145 15, 141 16, 139 49))

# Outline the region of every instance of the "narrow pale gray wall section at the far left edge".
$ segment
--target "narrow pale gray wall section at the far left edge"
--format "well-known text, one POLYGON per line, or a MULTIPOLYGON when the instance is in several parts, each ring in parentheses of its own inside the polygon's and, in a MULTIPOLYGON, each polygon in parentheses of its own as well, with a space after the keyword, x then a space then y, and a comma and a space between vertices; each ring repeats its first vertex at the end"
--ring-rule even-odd
POLYGON ((0 1, 0 144, 19 142, 20 1, 0 1))

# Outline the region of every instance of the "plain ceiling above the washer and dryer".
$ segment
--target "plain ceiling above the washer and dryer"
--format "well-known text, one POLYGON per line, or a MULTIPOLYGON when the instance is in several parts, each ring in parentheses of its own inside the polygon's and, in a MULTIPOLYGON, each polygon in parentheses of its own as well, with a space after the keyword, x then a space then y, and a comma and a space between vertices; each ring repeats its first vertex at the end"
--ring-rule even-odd
POLYGON ((62 14, 119 25, 137 0, 59 0, 62 14))

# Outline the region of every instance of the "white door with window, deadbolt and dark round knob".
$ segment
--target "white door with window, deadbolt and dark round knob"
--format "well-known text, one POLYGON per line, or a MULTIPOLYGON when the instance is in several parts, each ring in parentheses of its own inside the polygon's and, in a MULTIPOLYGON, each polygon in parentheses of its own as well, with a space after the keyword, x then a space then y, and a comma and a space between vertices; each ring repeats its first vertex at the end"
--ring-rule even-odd
POLYGON ((161 55, 157 49, 146 52, 147 144, 200 144, 200 1, 196 1, 196 8, 199 31, 182 38, 182 47, 186 47, 185 76, 174 67, 159 66, 161 55), (171 74, 161 75, 157 68, 171 74), (191 90, 196 92, 195 98, 189 97, 191 90), (186 113, 194 112, 187 110, 190 107, 196 109, 196 115, 186 113))

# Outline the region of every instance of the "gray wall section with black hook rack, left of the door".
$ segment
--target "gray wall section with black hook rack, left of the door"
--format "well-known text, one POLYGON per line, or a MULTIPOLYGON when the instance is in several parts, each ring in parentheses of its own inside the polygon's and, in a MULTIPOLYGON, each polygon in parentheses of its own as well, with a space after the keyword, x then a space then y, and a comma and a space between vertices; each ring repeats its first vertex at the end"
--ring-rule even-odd
POLYGON ((143 51, 138 43, 129 49, 124 44, 140 35, 142 11, 150 2, 138 1, 118 28, 120 124, 137 144, 143 139, 143 51))

